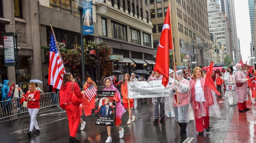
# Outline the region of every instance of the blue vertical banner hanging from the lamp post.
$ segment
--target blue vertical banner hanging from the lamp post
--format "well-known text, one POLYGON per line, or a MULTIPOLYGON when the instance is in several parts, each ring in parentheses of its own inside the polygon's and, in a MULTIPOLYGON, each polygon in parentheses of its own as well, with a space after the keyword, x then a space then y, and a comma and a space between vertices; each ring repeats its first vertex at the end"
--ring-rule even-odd
POLYGON ((93 34, 92 1, 83 3, 83 35, 93 34))

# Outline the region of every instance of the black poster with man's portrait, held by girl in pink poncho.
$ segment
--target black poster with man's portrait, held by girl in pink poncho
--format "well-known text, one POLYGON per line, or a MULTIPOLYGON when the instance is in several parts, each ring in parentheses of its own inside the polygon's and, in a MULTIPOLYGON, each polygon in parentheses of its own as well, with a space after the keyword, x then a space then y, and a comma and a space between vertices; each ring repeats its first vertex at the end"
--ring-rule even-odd
POLYGON ((95 103, 95 124, 115 126, 116 101, 112 100, 116 91, 97 91, 95 103))

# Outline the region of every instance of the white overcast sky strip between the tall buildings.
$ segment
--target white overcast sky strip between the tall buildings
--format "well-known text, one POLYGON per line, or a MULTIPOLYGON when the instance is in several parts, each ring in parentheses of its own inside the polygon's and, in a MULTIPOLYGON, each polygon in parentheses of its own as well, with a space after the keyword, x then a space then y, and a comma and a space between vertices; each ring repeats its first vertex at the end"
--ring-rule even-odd
MULTIPOLYGON (((248 0, 235 1, 235 18, 237 24, 237 38, 240 39, 240 49, 243 61, 249 61, 251 43, 251 26, 249 17, 248 0)), ((240 61, 240 59, 237 59, 240 61)))

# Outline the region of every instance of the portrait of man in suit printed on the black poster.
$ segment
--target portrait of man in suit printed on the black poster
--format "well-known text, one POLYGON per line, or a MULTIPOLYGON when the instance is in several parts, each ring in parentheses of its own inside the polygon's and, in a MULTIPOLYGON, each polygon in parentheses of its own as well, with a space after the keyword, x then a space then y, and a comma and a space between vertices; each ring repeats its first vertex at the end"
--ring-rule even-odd
POLYGON ((100 116, 100 117, 112 117, 112 116, 114 116, 114 114, 112 113, 113 108, 109 105, 110 104, 110 99, 106 98, 104 103, 105 103, 105 105, 100 106, 98 116, 100 116))

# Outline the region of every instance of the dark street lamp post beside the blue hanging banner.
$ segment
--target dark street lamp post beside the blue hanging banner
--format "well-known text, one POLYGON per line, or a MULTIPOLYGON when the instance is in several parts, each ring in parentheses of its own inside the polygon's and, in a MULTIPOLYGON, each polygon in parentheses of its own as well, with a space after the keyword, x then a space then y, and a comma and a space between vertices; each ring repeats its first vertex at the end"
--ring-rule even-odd
POLYGON ((81 67, 82 67, 82 79, 81 86, 85 83, 85 53, 83 47, 83 5, 82 0, 79 0, 78 10, 80 11, 80 32, 81 32, 81 67))

